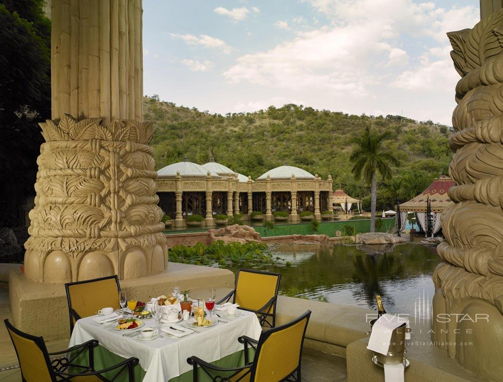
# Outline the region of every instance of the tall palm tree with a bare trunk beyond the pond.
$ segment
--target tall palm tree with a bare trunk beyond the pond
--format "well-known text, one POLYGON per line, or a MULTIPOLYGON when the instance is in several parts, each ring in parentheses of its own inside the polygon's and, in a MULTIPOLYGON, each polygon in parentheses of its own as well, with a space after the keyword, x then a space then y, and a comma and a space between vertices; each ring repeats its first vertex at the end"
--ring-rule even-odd
POLYGON ((375 232, 376 223, 376 194, 377 173, 383 179, 391 178, 391 166, 398 166, 398 160, 386 150, 383 142, 390 139, 390 132, 380 133, 367 126, 361 137, 353 139, 355 147, 351 152, 350 160, 353 163, 351 170, 356 180, 363 176, 363 180, 371 185, 370 188, 370 232, 375 232))

